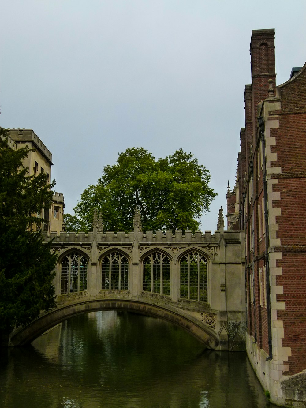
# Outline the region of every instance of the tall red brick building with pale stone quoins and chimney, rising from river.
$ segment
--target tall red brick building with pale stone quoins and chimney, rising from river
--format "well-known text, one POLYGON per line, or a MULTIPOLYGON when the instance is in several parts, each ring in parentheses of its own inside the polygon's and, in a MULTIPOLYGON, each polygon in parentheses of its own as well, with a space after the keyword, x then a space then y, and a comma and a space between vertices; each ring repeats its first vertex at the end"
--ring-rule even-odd
POLYGON ((228 229, 246 236, 248 357, 272 401, 302 406, 294 401, 306 401, 306 64, 275 86, 274 30, 253 30, 250 51, 228 229))

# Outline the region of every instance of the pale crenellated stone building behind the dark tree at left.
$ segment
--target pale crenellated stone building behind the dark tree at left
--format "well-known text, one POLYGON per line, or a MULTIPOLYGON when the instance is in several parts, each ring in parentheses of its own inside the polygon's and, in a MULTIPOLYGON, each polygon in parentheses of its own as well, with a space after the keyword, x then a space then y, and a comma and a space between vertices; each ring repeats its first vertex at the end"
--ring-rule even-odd
MULTIPOLYGON (((29 147, 33 149, 24 159, 24 166, 28 167, 29 175, 44 173, 47 175, 48 183, 51 181, 52 154, 42 143, 40 138, 32 129, 8 129, 8 146, 13 149, 29 147)), ((55 193, 51 210, 42 208, 41 218, 43 222, 40 226, 42 231, 50 233, 56 231, 60 233, 63 225, 64 196, 62 193, 55 193)))

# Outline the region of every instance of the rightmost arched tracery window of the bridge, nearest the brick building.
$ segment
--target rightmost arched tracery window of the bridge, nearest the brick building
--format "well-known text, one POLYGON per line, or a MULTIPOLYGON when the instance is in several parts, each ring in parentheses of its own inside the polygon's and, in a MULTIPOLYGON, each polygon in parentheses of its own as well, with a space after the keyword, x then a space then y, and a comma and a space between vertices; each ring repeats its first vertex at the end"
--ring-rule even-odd
POLYGON ((180 297, 208 302, 207 259, 198 252, 180 260, 180 297))

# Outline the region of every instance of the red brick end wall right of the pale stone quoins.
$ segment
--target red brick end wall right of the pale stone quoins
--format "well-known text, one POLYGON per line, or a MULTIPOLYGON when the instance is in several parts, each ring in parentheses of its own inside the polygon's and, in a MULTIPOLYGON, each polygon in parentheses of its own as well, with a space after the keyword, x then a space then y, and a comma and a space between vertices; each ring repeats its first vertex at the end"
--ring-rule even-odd
POLYGON ((295 374, 306 368, 306 69, 293 80, 279 87, 281 109, 277 112, 279 128, 272 129, 277 152, 273 166, 281 166, 282 173, 275 175, 281 200, 273 206, 281 208, 276 217, 279 224, 277 238, 281 239, 282 276, 276 284, 283 286, 277 302, 286 302, 286 310, 277 311, 284 323, 282 346, 291 347, 288 357, 289 371, 295 374))

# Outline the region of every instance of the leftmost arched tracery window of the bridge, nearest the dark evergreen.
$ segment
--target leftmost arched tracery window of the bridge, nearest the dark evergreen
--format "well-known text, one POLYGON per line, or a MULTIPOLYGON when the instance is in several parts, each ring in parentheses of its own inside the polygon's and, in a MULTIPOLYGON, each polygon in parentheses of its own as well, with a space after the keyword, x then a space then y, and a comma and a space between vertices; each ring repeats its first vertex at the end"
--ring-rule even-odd
POLYGON ((87 259, 78 252, 71 252, 61 262, 60 294, 87 290, 87 259))

